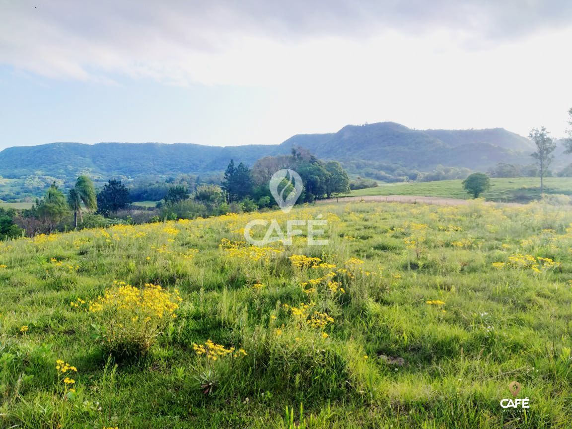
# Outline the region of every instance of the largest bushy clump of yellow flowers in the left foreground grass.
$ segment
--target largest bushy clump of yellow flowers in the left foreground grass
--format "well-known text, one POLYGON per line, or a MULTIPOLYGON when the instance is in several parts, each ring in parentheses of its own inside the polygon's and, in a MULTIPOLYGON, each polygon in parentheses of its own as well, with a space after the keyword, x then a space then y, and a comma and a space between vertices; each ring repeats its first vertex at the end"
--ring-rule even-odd
POLYGON ((177 289, 170 293, 155 284, 140 289, 116 281, 104 296, 90 302, 89 311, 97 319, 96 336, 108 351, 136 355, 148 350, 176 317, 180 301, 177 289))

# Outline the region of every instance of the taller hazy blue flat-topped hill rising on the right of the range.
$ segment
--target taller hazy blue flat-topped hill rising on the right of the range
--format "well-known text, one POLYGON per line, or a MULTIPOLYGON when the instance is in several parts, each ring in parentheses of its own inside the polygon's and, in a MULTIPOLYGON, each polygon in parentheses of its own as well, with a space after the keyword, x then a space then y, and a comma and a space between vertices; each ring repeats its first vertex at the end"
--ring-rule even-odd
POLYGON ((337 133, 294 136, 281 146, 304 146, 324 159, 367 160, 419 170, 436 165, 486 170, 497 162, 529 164, 533 146, 502 128, 414 130, 395 122, 347 125, 337 133))

